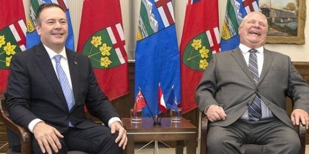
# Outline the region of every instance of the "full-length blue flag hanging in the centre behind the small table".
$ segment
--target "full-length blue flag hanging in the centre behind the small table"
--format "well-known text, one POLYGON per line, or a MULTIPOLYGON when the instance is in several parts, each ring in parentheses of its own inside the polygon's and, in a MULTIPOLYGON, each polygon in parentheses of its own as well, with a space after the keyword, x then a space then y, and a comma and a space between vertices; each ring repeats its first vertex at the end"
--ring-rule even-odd
POLYGON ((157 114, 159 83, 163 100, 168 100, 175 85, 180 103, 180 55, 173 5, 171 0, 142 0, 135 50, 135 95, 138 87, 143 89, 151 109, 144 107, 143 117, 157 114))

